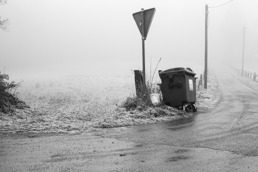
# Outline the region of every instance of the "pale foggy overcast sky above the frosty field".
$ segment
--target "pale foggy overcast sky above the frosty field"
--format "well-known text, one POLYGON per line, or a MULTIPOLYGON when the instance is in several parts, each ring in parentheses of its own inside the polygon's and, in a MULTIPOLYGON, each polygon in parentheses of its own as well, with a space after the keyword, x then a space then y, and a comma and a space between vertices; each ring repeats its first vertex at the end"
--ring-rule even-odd
MULTIPOLYGON (((205 4, 229 1, 9 0, 0 5, 2 18, 10 19, 10 31, 0 30, 0 71, 142 69, 141 35, 132 14, 152 7, 156 12, 145 41, 146 68, 150 60, 155 67, 160 58, 162 70, 204 68, 205 4)), ((243 28, 258 18, 257 7, 257 0, 233 0, 208 9, 208 63, 241 62, 243 28)), ((257 23, 246 29, 246 58, 258 54, 257 23)))

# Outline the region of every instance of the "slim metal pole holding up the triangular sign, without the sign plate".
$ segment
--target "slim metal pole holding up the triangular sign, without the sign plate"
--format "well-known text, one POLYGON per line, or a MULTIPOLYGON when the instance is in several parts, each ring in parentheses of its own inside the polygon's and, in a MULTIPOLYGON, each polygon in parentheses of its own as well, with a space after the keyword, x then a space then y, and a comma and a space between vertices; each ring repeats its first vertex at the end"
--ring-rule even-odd
POLYGON ((143 77, 143 98, 145 99, 146 95, 146 80, 145 80, 145 48, 144 48, 144 9, 141 10, 142 13, 142 77, 143 77))

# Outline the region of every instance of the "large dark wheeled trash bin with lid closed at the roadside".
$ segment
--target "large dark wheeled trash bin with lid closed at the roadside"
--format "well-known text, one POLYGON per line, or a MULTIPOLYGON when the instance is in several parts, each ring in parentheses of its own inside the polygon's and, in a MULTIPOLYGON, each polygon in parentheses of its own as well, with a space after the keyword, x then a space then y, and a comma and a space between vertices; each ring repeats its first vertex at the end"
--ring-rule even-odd
POLYGON ((196 102, 196 73, 190 68, 176 67, 159 71, 163 101, 166 105, 181 110, 197 111, 196 102))

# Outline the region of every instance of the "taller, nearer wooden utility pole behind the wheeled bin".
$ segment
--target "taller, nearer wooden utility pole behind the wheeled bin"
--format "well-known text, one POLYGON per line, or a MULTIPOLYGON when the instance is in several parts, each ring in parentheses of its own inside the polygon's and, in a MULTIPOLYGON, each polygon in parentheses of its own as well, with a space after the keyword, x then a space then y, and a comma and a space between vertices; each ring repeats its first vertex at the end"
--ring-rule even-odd
POLYGON ((205 5, 205 59, 204 59, 204 88, 207 89, 207 71, 208 71, 208 5, 205 5))

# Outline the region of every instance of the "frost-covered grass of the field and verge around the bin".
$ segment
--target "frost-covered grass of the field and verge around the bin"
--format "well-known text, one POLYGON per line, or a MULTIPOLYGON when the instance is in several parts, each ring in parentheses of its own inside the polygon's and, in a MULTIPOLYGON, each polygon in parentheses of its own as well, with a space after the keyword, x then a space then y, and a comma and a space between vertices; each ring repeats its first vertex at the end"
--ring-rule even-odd
MULTIPOLYGON (((197 76, 199 77, 199 75, 197 76)), ((17 90, 30 109, 0 114, 0 133, 63 132, 80 133, 103 127, 152 124, 191 116, 167 106, 146 110, 125 109, 122 103, 134 93, 134 75, 104 73, 83 76, 47 76, 23 78, 17 90)), ((213 74, 208 89, 198 88, 197 107, 210 108, 219 99, 219 87, 213 74)))

